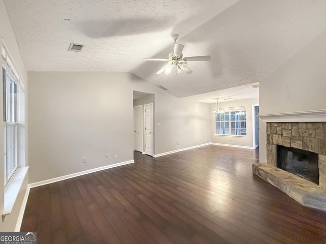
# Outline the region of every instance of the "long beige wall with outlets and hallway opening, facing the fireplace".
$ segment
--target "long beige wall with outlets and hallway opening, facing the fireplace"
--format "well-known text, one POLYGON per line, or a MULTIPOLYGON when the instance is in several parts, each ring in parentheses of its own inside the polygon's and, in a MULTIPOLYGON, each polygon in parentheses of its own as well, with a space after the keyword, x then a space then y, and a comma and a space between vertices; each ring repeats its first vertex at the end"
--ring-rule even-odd
POLYGON ((208 104, 129 73, 30 72, 30 183, 133 160, 133 90, 155 95, 155 154, 209 142, 208 104))

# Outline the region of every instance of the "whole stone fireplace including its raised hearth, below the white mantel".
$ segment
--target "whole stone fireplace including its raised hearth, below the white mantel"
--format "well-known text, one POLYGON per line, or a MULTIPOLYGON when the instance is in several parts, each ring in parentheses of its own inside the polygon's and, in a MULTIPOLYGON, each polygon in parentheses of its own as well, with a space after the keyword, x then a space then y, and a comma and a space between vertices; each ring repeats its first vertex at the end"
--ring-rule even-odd
POLYGON ((254 174, 301 204, 326 210, 326 122, 268 122, 266 133, 267 164, 254 164, 254 174), (296 155, 292 161, 297 162, 291 162, 292 166, 286 166, 287 168, 292 167, 293 171, 300 166, 301 169, 295 170, 306 171, 307 174, 307 171, 311 171, 310 174, 318 170, 318 176, 314 176, 317 179, 308 180, 300 173, 280 169, 277 160, 286 155, 280 155, 280 148, 283 147, 290 148, 291 153, 296 155), (313 158, 317 162, 308 169, 308 163, 313 158))

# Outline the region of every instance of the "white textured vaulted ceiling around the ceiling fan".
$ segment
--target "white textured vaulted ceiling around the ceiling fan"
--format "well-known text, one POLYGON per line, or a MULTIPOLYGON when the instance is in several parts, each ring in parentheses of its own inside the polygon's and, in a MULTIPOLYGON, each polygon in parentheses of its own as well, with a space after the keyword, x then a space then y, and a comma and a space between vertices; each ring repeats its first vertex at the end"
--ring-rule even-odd
POLYGON ((4 2, 28 71, 131 72, 176 97, 202 94, 200 101, 220 90, 253 96, 249 84, 326 30, 326 1, 317 0, 4 2), (188 62, 189 75, 156 75, 164 63, 142 59, 168 57, 173 34, 184 56, 211 60, 188 62), (67 51, 71 42, 85 44, 83 51, 67 51))

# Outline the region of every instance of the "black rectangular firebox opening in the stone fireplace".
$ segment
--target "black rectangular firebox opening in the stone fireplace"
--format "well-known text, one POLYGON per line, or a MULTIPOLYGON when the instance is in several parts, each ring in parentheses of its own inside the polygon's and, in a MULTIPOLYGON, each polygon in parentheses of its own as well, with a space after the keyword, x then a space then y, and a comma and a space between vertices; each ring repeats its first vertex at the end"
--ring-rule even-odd
POLYGON ((318 154, 277 145, 277 167, 319 185, 318 154))

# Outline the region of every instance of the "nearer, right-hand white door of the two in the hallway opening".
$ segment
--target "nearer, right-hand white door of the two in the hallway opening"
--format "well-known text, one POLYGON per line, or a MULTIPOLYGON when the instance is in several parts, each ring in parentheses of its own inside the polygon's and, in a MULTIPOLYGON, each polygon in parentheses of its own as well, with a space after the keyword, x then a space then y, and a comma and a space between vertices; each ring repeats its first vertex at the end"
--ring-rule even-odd
POLYGON ((145 104, 145 154, 153 156, 153 104, 145 104))

